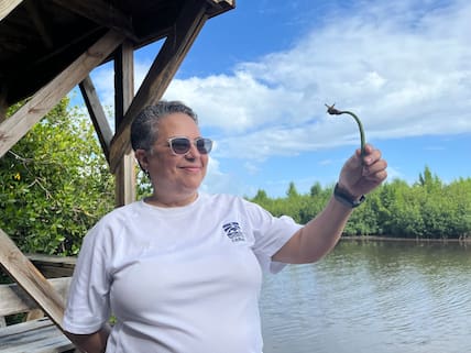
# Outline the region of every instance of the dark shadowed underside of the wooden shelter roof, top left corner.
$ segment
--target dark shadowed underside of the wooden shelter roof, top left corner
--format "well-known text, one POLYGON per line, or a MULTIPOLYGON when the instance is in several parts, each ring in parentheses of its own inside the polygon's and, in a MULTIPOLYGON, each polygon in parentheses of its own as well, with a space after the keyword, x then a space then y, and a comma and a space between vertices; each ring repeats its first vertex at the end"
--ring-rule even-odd
MULTIPOLYGON (((165 37, 185 0, 2 0, 0 92, 7 106, 31 96, 108 30, 134 48, 165 37), (9 12, 10 11, 10 12, 9 12)), ((208 1, 208 18, 233 1, 208 1)))

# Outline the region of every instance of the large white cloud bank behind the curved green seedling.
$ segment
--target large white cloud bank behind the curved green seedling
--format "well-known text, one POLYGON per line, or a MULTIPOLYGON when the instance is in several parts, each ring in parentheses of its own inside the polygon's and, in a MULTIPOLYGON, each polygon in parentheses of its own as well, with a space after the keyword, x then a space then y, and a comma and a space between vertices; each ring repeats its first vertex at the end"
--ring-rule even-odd
POLYGON ((352 144, 357 128, 328 121, 326 102, 355 111, 374 139, 471 132, 471 47, 463 34, 471 31, 471 4, 360 3, 289 51, 241 63, 232 75, 176 79, 166 96, 222 130, 226 154, 242 158, 352 144), (241 140, 247 153, 236 154, 241 140))

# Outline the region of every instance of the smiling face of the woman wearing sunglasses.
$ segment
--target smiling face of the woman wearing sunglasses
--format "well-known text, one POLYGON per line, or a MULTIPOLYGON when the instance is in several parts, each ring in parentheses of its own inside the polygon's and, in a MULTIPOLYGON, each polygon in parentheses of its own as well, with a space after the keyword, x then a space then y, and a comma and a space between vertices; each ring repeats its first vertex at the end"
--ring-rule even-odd
POLYGON ((172 113, 158 122, 158 139, 151 152, 136 151, 141 166, 147 169, 156 201, 167 206, 193 201, 206 175, 208 155, 200 154, 191 143, 188 153, 174 154, 171 137, 201 137, 196 122, 185 113, 172 113))

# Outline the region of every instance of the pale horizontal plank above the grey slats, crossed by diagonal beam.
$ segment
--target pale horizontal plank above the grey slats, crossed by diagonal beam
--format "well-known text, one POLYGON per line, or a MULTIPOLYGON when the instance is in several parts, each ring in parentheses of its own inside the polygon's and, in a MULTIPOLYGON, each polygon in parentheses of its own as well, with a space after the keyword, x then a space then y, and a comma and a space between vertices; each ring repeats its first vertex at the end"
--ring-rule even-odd
MULTIPOLYGON (((59 295, 62 302, 67 298, 70 277, 52 278, 47 282, 59 295)), ((37 304, 17 284, 0 285, 0 317, 37 309, 37 304)))

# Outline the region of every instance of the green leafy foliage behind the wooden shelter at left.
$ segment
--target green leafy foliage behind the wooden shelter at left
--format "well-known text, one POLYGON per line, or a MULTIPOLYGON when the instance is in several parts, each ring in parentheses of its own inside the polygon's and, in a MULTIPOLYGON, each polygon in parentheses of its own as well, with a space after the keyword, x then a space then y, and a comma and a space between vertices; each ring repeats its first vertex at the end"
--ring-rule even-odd
POLYGON ((0 159, 0 228, 23 252, 76 254, 86 231, 113 207, 112 176, 92 125, 67 99, 0 159))

